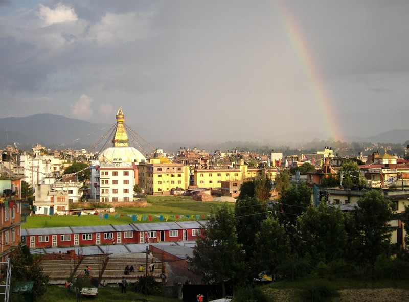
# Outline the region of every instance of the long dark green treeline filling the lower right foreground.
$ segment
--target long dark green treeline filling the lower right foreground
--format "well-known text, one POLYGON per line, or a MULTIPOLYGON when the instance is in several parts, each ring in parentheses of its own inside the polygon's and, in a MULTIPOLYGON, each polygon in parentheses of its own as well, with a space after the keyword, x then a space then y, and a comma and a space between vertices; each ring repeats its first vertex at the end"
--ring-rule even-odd
MULTIPOLYGON (((308 185, 289 179, 289 173, 277 178, 277 202, 268 202, 271 184, 261 177, 242 184, 234 209, 217 207, 197 240, 193 269, 209 282, 240 286, 261 272, 276 280, 409 279, 409 254, 391 244, 391 203, 381 192, 367 191, 354 211, 342 212, 325 202, 315 207, 308 185)), ((406 232, 408 217, 406 208, 406 232)))

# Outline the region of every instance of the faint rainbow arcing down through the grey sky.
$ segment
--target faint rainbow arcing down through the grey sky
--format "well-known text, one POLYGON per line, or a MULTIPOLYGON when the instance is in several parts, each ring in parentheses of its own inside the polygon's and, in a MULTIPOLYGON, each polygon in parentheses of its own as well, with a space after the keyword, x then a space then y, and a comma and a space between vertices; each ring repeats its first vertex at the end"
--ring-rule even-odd
POLYGON ((324 81, 321 80, 319 69, 308 48, 308 43, 304 38, 303 32, 289 10, 279 1, 275 1, 274 3, 276 4, 287 37, 302 65, 304 75, 310 83, 309 86, 314 96, 315 105, 317 109, 320 110, 319 113, 321 117, 323 117, 323 130, 326 130, 326 134, 329 138, 335 141, 341 140, 343 135, 338 126, 339 124, 335 115, 336 110, 331 106, 330 98, 323 86, 324 81))

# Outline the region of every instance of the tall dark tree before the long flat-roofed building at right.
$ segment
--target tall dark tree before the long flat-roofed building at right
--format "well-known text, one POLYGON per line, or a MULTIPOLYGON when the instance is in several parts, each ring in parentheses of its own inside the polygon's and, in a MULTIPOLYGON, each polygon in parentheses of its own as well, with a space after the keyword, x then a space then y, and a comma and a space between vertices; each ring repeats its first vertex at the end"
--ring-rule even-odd
POLYGON ((391 242, 391 203, 383 193, 372 190, 357 201, 353 213, 355 222, 355 248, 358 260, 374 264, 381 254, 388 254, 391 242))

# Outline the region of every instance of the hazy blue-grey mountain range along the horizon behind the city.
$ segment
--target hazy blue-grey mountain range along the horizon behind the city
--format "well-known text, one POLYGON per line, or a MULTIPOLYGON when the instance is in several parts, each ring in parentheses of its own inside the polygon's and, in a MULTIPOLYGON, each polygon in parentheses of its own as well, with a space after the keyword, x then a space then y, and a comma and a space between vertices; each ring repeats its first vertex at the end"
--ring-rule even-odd
MULTIPOLYGON (((114 124, 107 123, 90 123, 87 121, 66 118, 62 115, 54 114, 35 114, 22 118, 2 118, 0 119, 0 146, 15 145, 19 149, 28 150, 35 144, 41 144, 47 148, 89 148, 107 142, 109 131, 113 130, 114 124), (106 137, 105 137, 106 136, 106 137), (105 138, 104 138, 105 137, 105 138)), ((131 127, 132 128, 132 127, 131 127)), ((293 133, 289 135, 291 142, 300 142, 300 137, 305 142, 320 137, 318 133, 293 133)), ((229 138, 226 137, 228 140, 229 138)), ((321 139, 321 138, 320 138, 321 139)), ((379 133, 370 137, 346 137, 345 142, 372 142, 372 143, 391 143, 404 144, 409 140, 409 129, 394 129, 387 132, 379 133)), ((148 140, 149 141, 149 140, 148 140)), ((108 142, 109 143, 109 142, 108 142)), ((151 141, 152 145, 154 143, 151 141)), ((201 142, 205 143, 205 142, 201 142)), ((178 146, 189 146, 185 143, 176 143, 178 146)), ((223 143, 220 143, 221 145, 223 143)), ((262 144, 265 144, 263 142, 262 144)), ((169 143, 156 142, 156 146, 165 149, 169 143)), ((214 146, 214 142, 212 146, 214 146)), ((172 149, 175 144, 172 145, 172 149)), ((99 151, 99 150, 94 150, 99 151)), ((176 150, 167 150, 176 151, 176 150)))

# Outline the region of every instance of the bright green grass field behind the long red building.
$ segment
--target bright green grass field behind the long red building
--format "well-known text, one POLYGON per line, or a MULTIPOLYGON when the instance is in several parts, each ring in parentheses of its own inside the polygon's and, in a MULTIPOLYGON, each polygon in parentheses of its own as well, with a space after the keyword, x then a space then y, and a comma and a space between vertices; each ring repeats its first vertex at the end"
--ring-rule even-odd
MULTIPOLYGON (((35 215, 27 217, 27 222, 22 224, 21 227, 40 228, 206 220, 210 214, 211 207, 220 204, 217 201, 201 202, 194 201, 191 197, 175 196, 149 196, 147 200, 147 207, 118 207, 115 209, 115 213, 108 213, 107 219, 100 219, 99 215, 35 215), (134 221, 132 216, 128 215, 138 215, 140 219, 134 221), (151 221, 148 218, 149 215, 152 217, 151 221), (144 220, 144 216, 146 220, 144 220)), ((230 204, 234 206, 234 203, 230 204)))

